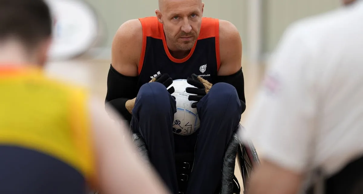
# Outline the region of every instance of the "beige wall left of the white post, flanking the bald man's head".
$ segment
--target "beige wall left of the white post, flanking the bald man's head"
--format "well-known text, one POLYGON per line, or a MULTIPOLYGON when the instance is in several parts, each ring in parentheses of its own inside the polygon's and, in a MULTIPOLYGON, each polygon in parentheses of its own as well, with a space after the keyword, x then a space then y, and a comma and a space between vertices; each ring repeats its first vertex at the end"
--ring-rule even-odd
MULTIPOLYGON (((125 21, 154 16, 158 0, 85 0, 97 11, 106 24, 107 41, 111 46, 112 38, 118 27, 125 21)), ((203 0, 204 16, 229 20, 240 30, 242 39, 246 40, 246 0, 203 0), (223 3, 222 3, 223 2, 223 3)), ((244 41, 245 42, 245 41, 244 41)))

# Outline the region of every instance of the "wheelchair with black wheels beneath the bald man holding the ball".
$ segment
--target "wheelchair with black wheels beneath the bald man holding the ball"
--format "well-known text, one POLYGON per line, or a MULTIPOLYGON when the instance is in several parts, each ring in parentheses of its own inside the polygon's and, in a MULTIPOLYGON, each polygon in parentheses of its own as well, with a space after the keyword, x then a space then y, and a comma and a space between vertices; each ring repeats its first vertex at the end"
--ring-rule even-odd
MULTIPOLYGON (((253 167, 260 164, 260 160, 254 146, 252 144, 241 144, 241 141, 237 136, 237 133, 241 130, 245 130, 242 125, 239 126, 237 132, 233 133, 232 138, 227 145, 223 159, 221 181, 214 194, 246 193, 248 191, 249 177, 253 167), (240 183, 234 174, 236 160, 242 175, 242 193, 240 183)), ((132 140, 134 141, 140 155, 148 162, 148 151, 141 135, 139 133, 133 133, 132 140)), ((175 153, 175 161, 179 187, 178 194, 184 194, 187 189, 188 178, 193 167, 194 153, 175 153)), ((99 193, 98 191, 95 191, 94 194, 99 193)))

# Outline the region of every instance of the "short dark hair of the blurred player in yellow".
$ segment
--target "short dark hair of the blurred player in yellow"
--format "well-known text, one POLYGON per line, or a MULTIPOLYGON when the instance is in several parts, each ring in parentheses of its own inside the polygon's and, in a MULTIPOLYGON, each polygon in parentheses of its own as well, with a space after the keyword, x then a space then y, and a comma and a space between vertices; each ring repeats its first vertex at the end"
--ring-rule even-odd
POLYGON ((52 34, 52 17, 44 0, 0 0, 0 41, 15 37, 32 47, 52 34))

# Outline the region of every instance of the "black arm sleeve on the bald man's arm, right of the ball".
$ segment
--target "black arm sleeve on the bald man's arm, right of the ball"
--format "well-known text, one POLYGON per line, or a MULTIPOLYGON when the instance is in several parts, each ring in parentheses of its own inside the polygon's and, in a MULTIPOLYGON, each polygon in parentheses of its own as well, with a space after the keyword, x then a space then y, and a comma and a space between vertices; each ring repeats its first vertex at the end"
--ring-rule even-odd
MULTIPOLYGON (((245 98, 245 82, 243 78, 242 67, 236 73, 232 75, 217 76, 216 82, 229 83, 237 90, 238 98, 241 100, 242 113, 246 110, 246 98, 245 98)), ((213 84, 215 84, 213 83, 213 84)))

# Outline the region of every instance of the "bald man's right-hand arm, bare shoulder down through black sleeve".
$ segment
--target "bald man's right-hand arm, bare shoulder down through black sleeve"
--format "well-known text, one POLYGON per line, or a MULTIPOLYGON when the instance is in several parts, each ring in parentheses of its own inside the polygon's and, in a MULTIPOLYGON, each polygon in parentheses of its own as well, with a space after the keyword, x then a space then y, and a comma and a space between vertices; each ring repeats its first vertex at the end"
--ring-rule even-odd
POLYGON ((225 82, 234 86, 242 108, 245 109, 246 99, 241 67, 242 41, 237 28, 231 22, 219 20, 219 41, 221 65, 217 72, 216 83, 225 82))

